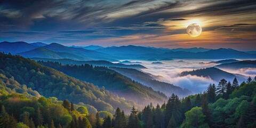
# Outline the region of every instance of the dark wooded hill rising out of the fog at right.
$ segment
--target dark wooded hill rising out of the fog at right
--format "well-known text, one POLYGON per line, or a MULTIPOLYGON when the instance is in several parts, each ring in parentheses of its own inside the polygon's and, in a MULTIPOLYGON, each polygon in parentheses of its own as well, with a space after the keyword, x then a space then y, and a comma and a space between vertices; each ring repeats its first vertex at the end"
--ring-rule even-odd
POLYGON ((236 76, 234 74, 228 73, 226 71, 220 70, 215 67, 211 68, 203 68, 203 69, 197 69, 193 71, 183 71, 180 76, 187 76, 187 75, 196 75, 196 76, 203 76, 203 77, 210 77, 214 81, 220 81, 220 79, 225 78, 229 81, 233 81, 235 77, 238 77, 237 79, 241 80, 239 76, 236 76))

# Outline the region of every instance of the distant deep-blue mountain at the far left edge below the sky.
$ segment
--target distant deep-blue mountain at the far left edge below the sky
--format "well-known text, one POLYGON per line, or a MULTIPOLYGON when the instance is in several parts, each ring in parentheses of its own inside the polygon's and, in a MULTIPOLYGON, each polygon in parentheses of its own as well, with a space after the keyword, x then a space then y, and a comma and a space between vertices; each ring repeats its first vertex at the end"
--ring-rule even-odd
POLYGON ((33 46, 26 42, 1 42, 0 43, 0 52, 5 52, 5 53, 10 52, 12 54, 33 50, 36 48, 37 46, 33 46))

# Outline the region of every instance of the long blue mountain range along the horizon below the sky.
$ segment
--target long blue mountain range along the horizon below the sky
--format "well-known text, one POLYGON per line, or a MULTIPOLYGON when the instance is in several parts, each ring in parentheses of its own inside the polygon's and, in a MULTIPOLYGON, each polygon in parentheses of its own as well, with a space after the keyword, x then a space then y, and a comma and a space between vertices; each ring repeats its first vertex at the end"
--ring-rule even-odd
MULTIPOLYGON (((101 47, 101 46, 64 46, 58 43, 43 44, 43 43, 26 43, 26 42, 2 42, 0 43, 0 51, 12 54, 23 54, 26 52, 26 57, 36 58, 35 49, 43 47, 44 49, 51 50, 45 52, 45 50, 39 50, 40 58, 51 58, 58 56, 65 59, 76 58, 76 60, 107 60, 107 61, 118 61, 124 59, 134 60, 171 60, 171 59, 253 59, 256 58, 254 53, 246 53, 233 49, 204 49, 202 47, 194 47, 191 49, 164 49, 156 47, 145 47, 145 46, 112 46, 112 47, 101 47), (99 48, 99 49, 98 49, 99 48), (90 50, 87 50, 90 49, 90 50), (54 51, 54 52, 52 52, 54 51), (58 52, 58 53, 57 53, 58 52), (53 55, 50 55, 53 54, 53 55), (57 55, 58 54, 58 55, 57 55), (75 54, 79 57, 74 57, 75 54), (65 56, 65 55, 64 55, 65 56), (71 56, 71 57, 70 57, 71 56)), ((39 54, 39 53, 38 53, 39 54)))

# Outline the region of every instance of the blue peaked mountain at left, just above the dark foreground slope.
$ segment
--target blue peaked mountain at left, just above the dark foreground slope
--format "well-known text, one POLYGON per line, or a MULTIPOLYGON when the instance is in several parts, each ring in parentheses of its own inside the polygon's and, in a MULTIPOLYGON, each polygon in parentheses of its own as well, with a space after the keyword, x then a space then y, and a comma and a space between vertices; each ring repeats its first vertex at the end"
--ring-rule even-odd
POLYGON ((73 60, 89 60, 83 57, 80 57, 75 54, 66 53, 66 52, 56 52, 43 47, 39 47, 34 50, 17 53, 22 57, 26 58, 51 58, 51 59, 73 59, 73 60))

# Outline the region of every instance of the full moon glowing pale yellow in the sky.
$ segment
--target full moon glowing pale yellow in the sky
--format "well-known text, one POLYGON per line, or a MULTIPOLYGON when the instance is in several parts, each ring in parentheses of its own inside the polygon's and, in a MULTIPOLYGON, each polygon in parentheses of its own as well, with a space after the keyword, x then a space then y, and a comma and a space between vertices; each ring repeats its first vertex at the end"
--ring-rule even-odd
POLYGON ((202 28, 197 23, 191 23, 187 27, 187 34, 191 37, 197 37, 202 33, 202 28))

